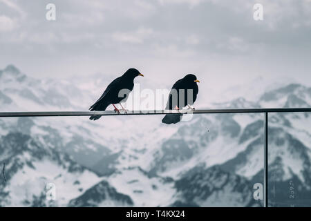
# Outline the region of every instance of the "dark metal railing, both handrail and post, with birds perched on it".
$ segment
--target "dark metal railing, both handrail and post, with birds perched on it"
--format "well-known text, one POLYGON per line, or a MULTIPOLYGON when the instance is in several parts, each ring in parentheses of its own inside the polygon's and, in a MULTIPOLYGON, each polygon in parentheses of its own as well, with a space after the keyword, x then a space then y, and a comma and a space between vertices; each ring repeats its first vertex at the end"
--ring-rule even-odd
POLYGON ((128 115, 164 115, 173 113, 264 113, 264 166, 263 191, 264 204, 268 206, 268 113, 311 112, 311 108, 236 108, 236 109, 207 109, 207 110, 158 110, 158 111, 43 111, 43 112, 0 112, 0 117, 64 117, 64 116, 128 116, 128 115))

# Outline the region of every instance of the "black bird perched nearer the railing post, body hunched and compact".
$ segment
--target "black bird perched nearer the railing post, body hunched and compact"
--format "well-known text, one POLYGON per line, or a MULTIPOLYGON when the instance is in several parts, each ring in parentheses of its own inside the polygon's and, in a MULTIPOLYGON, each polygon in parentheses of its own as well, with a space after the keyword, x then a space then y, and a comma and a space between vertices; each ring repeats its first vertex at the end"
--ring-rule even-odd
MULTIPOLYGON (((200 82, 196 79, 196 75, 186 75, 184 78, 179 79, 173 84, 171 88, 171 92, 169 93, 169 100, 167 101, 166 110, 179 110, 185 106, 191 108, 190 105, 193 105, 196 101, 196 96, 198 95, 198 84, 200 82), (192 91, 191 91, 192 90, 192 91), (192 95, 189 97, 188 95, 192 95), (184 98, 184 99, 182 99, 184 98)), ((194 108, 191 108, 194 109, 194 108)), ((176 124, 180 122, 180 118, 182 117, 182 113, 176 114, 167 114, 162 119, 162 123, 164 124, 176 124)))

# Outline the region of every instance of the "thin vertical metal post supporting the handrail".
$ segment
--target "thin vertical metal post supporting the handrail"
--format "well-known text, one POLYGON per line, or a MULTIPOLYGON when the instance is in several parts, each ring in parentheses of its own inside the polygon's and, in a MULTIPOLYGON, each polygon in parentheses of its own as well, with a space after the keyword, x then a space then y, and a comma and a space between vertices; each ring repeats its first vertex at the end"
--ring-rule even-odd
POLYGON ((268 207, 268 113, 265 112, 265 120, 264 120, 264 164, 263 164, 263 206, 268 207))

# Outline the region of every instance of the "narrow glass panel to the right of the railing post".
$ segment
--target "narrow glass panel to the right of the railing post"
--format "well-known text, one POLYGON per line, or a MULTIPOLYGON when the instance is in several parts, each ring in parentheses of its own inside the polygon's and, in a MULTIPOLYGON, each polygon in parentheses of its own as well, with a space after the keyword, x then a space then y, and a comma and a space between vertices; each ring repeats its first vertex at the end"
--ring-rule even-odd
POLYGON ((310 113, 270 114, 270 206, 311 206, 310 125, 310 113))

